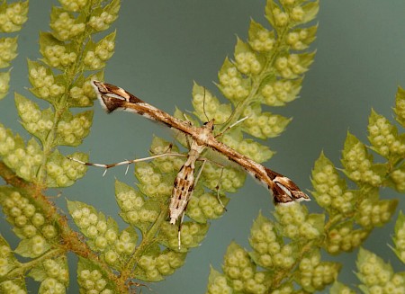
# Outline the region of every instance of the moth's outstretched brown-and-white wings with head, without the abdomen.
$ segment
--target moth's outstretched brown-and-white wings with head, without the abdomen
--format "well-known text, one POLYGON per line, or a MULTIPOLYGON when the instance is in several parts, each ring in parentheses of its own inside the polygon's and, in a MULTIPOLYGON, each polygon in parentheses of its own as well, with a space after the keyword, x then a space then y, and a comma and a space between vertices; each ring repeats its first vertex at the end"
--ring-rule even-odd
MULTIPOLYGON (((201 154, 206 147, 209 147, 243 167, 248 174, 251 174, 257 181, 273 192, 275 204, 288 204, 293 201, 311 200, 310 197, 302 192, 288 177, 283 174, 275 173, 275 171, 258 164, 249 157, 238 153, 238 151, 220 142, 217 139, 218 135, 215 136, 213 134, 213 119, 204 123, 202 127, 194 127, 189 122, 176 119, 165 111, 161 111, 155 106, 140 100, 135 95, 130 94, 116 85, 98 81, 93 81, 92 83, 101 105, 108 113, 116 110, 135 112, 149 120, 156 120, 171 129, 177 129, 183 132, 184 135, 192 139, 194 144, 192 149, 195 150, 196 153, 201 154)), ((193 160, 191 161, 195 162, 197 157, 192 157, 193 160)))

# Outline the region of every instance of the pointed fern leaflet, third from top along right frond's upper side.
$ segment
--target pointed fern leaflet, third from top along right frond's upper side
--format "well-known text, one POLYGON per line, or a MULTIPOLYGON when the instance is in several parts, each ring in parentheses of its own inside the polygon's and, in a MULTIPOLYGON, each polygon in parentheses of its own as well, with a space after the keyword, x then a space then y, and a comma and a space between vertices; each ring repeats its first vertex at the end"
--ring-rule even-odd
POLYGON ((351 134, 347 135, 342 163, 347 176, 356 183, 378 187, 383 182, 382 175, 374 170, 373 158, 368 155, 365 145, 351 134))

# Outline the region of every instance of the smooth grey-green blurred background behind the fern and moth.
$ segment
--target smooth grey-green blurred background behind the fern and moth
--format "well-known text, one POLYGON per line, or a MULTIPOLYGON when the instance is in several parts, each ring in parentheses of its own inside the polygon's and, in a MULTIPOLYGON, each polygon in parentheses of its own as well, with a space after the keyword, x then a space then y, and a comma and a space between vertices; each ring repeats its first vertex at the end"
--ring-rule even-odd
MULTIPOLYGON (((31 0, 29 20, 19 37, 11 93, 31 96, 26 90, 26 58, 40 58, 38 33, 49 31, 51 4, 56 1, 31 0)), ((247 38, 250 17, 266 23, 265 4, 264 0, 122 1, 120 18, 115 23, 115 55, 106 68, 105 80, 170 113, 175 106, 191 110, 193 80, 219 94, 212 81, 217 81, 224 58, 232 57, 236 35, 247 38)), ((339 166, 347 130, 365 141, 372 108, 392 119, 397 86, 405 87, 404 13, 405 2, 401 0, 320 3, 318 39, 312 46, 317 49, 315 62, 305 77, 301 98, 284 109, 272 110, 292 116, 293 121, 282 136, 269 140, 277 154, 267 166, 311 190, 311 168, 322 150, 339 166)), ((28 138, 19 125, 12 94, 0 102, 0 117, 7 127, 28 138)), ((165 128, 149 120, 123 112, 107 116, 96 104, 92 133, 80 150, 89 152, 95 162, 147 156, 154 134, 170 139, 165 128)), ((101 170, 89 169, 74 187, 49 194, 61 192, 55 200, 65 212, 66 199, 82 200, 119 218, 113 197, 114 178, 126 183, 133 183, 134 178, 125 175, 124 168, 114 169, 104 177, 102 174, 101 170)), ((234 240, 248 248, 249 227, 259 210, 266 216, 273 211, 270 196, 248 178, 244 188, 230 197, 228 212, 212 222, 208 236, 188 255, 184 267, 166 281, 150 284, 154 293, 203 293, 210 264, 220 270, 227 245, 234 240)), ((383 191, 383 198, 392 197, 401 198, 400 209, 405 209, 403 195, 383 191)), ((314 202, 309 208, 320 211, 314 202)), ((0 229, 15 246, 17 240, 4 218, 0 229)), ((393 222, 375 229, 364 246, 391 261, 396 271, 403 271, 403 264, 387 246, 392 244, 392 234, 393 222)), ((76 262, 74 256, 69 257, 76 262)), ((358 283, 353 273, 356 252, 326 257, 345 264, 340 281, 358 283)), ((77 291, 75 271, 73 263, 70 293, 77 291)), ((35 286, 31 290, 36 292, 35 286)))

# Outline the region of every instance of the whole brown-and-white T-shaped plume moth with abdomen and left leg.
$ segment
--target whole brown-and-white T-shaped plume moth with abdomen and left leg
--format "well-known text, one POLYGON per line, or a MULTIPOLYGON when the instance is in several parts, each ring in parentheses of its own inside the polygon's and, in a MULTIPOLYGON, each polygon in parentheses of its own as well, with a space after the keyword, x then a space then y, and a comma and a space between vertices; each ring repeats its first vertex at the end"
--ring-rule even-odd
MULTIPOLYGON (((175 224, 175 221, 180 216, 182 216, 182 218, 184 217, 184 211, 190 197, 192 196, 196 180, 200 176, 205 162, 203 161, 199 174, 194 178, 195 163, 200 158, 204 149, 207 147, 219 152, 223 156, 229 158, 229 160, 242 166, 248 174, 251 174, 260 183, 264 184, 268 190, 273 192, 275 204, 289 204, 293 203, 293 201, 311 200, 310 197, 302 192, 300 188, 288 177, 284 176, 283 174, 275 173, 266 166, 258 164, 247 156, 244 156, 238 153, 236 150, 221 143, 217 138, 220 137, 222 133, 218 135, 213 134, 213 119, 205 122, 201 127, 194 127, 189 121, 179 120, 165 111, 161 111, 155 106, 140 100, 138 97, 130 94, 116 85, 106 84, 98 81, 93 81, 92 85, 94 86, 97 98, 99 99, 104 110, 108 113, 116 110, 136 112, 149 120, 156 120, 164 123, 171 129, 179 130, 190 138, 190 150, 184 165, 181 167, 180 171, 175 177, 172 197, 169 204, 169 217, 171 224, 175 224)), ((112 165, 84 163, 74 158, 71 159, 85 165, 94 165, 108 169, 117 165, 130 165, 132 163, 161 156, 184 155, 166 153, 141 159, 126 160, 112 165)))

